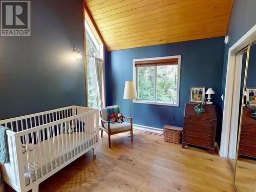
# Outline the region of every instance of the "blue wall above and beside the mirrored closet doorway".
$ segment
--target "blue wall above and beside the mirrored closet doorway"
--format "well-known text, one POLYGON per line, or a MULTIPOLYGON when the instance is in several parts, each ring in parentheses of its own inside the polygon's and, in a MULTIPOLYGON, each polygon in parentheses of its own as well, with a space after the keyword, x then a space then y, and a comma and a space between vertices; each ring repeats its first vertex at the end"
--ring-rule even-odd
MULTIPOLYGON (((225 45, 222 93, 225 93, 228 49, 256 24, 256 1, 234 0, 227 35, 229 42, 225 45)), ((222 108, 224 101, 222 102, 222 108)))

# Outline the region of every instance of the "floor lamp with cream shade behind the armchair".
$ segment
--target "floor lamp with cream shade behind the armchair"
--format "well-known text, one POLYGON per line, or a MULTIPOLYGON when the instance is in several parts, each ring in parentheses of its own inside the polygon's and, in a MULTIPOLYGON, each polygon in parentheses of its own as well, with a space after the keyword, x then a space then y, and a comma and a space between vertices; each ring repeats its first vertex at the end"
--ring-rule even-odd
MULTIPOLYGON (((130 99, 130 117, 132 117, 132 99, 137 98, 136 86, 134 81, 125 81, 123 98, 130 99)), ((127 134, 127 136, 130 137, 131 132, 130 134, 127 134)), ((133 136, 135 136, 135 134, 133 134, 133 136)))

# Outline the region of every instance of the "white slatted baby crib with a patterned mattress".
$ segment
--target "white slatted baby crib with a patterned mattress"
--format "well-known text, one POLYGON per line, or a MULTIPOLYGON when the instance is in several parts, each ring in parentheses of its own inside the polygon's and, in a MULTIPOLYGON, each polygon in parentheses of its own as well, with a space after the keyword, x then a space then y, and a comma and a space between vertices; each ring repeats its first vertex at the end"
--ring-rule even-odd
POLYGON ((38 191, 39 183, 84 153, 93 149, 95 155, 98 119, 97 109, 73 105, 1 120, 11 129, 7 131, 10 162, 1 166, 4 181, 18 192, 38 191))

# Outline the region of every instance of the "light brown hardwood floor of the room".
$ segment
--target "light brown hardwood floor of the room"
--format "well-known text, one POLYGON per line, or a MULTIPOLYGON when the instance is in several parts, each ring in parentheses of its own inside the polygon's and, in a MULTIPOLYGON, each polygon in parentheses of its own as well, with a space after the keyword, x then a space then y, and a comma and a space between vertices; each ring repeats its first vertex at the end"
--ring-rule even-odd
MULTIPOLYGON (((227 159, 194 147, 167 143, 162 136, 103 133, 97 155, 89 152, 42 182, 39 191, 234 191, 227 159)), ((9 187, 6 191, 12 191, 9 187)))

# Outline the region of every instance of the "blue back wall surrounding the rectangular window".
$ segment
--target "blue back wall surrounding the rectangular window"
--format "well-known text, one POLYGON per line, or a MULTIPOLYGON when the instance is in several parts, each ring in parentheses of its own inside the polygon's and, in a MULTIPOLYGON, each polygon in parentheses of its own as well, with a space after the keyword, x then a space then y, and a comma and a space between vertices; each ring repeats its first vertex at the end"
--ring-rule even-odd
MULTIPOLYGON (((212 100, 218 106, 221 120, 221 86, 224 38, 208 38, 111 51, 109 55, 110 93, 108 104, 122 106, 129 115, 130 101, 123 99, 124 83, 133 79, 132 60, 147 57, 181 55, 180 105, 178 107, 132 103, 135 124, 162 128, 164 124, 183 125, 184 104, 189 102, 190 86, 205 86, 215 90, 212 100)), ((221 125, 221 124, 220 124, 221 125)), ((219 141, 221 130, 217 131, 219 141)))

